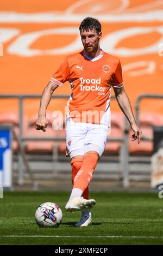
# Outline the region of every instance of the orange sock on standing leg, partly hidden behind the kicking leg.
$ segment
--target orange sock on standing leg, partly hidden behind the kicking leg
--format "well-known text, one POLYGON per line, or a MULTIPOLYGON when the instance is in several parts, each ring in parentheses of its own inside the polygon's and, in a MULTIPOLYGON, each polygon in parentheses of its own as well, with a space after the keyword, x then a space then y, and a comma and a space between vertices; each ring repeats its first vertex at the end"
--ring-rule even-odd
MULTIPOLYGON (((74 177, 77 175, 77 172, 80 170, 83 164, 83 158, 74 158, 71 160, 72 166, 72 185, 74 183, 74 177)), ((89 199, 89 188, 87 187, 83 192, 83 197, 89 199)))

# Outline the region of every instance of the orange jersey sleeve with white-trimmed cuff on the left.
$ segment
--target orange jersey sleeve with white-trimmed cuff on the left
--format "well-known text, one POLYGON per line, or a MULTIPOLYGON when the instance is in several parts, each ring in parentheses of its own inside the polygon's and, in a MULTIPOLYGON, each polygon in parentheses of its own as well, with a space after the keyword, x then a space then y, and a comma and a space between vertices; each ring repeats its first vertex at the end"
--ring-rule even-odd
POLYGON ((53 82, 56 85, 59 85, 63 87, 64 82, 68 81, 69 79, 69 67, 67 63, 67 59, 65 59, 58 70, 54 73, 54 75, 51 78, 51 82, 53 82))

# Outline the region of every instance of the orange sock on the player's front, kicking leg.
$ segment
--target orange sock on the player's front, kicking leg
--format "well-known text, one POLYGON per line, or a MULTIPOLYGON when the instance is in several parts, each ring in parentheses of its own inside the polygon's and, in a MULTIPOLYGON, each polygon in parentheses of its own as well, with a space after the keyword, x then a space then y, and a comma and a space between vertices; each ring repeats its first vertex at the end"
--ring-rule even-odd
POLYGON ((87 188, 92 180, 93 172, 98 162, 98 156, 96 153, 86 154, 83 158, 83 164, 77 175, 74 177, 73 188, 79 188, 83 191, 87 188))

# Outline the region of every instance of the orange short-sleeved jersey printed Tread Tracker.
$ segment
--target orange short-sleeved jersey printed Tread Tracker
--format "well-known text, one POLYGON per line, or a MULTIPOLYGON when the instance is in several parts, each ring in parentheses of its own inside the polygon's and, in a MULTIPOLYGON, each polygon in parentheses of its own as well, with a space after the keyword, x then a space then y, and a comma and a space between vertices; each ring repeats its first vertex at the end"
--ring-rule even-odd
POLYGON ((84 50, 67 56, 51 79, 58 86, 66 81, 72 89, 68 117, 74 122, 109 125, 111 86, 123 86, 120 60, 104 51, 95 58, 84 50))

